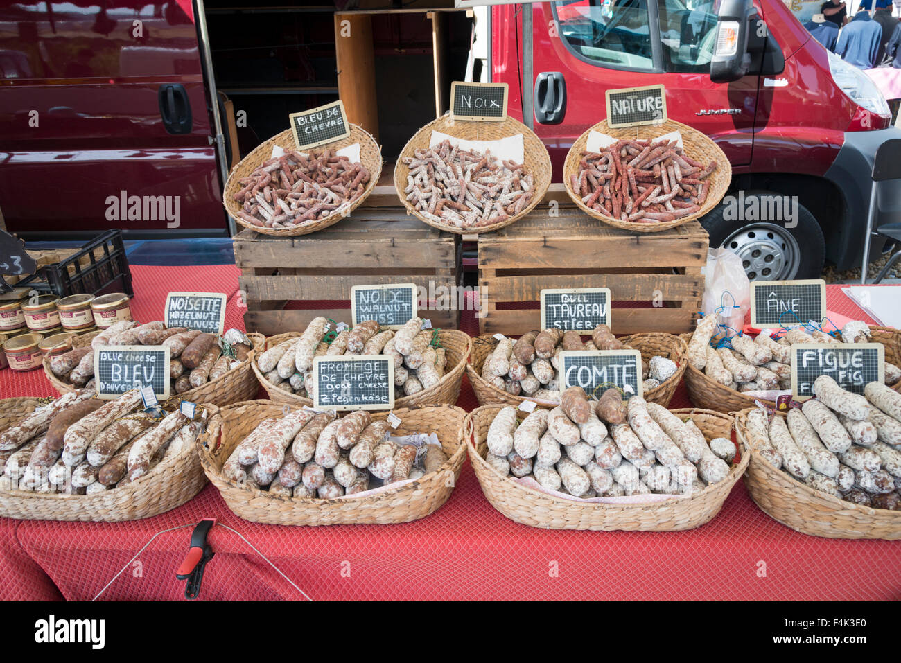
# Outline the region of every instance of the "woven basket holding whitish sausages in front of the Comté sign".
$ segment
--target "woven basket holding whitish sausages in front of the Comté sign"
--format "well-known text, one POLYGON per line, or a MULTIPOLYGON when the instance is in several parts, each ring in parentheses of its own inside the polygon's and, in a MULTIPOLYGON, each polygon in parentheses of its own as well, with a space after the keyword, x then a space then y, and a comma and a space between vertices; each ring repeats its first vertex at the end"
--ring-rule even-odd
MULTIPOLYGON (((748 453, 739 444, 741 459, 729 477, 690 497, 673 497, 648 504, 600 504, 578 502, 562 496, 548 495, 502 477, 488 465, 486 437, 488 427, 504 405, 484 405, 466 418, 464 436, 469 460, 488 502, 514 522, 551 530, 690 530, 709 522, 723 508, 735 482, 748 467, 748 453)), ((692 419, 707 440, 731 436, 733 419, 709 410, 672 410, 680 419, 692 419)), ((518 412, 522 420, 527 413, 518 412)))

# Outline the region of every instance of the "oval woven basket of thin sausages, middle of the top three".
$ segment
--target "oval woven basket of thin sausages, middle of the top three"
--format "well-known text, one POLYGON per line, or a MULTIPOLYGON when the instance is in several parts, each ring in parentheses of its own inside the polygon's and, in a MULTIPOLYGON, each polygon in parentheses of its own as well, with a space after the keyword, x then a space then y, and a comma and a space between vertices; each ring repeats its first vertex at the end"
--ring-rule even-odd
POLYGON ((527 213, 534 209, 535 205, 542 202, 542 198, 551 186, 551 155, 548 149, 544 147, 542 140, 535 135, 525 124, 507 117, 504 122, 475 122, 469 120, 451 120, 451 114, 433 120, 426 124, 422 129, 416 132, 401 150, 397 157, 395 166, 395 189, 397 197, 400 198, 401 204, 406 207, 406 212, 413 214, 415 217, 428 223, 434 228, 442 231, 455 232, 458 235, 480 234, 482 232, 492 232, 500 230, 505 226, 515 223, 523 218, 527 213), (505 221, 492 223, 491 225, 479 226, 478 228, 457 228, 455 226, 437 223, 432 221, 417 209, 414 208, 410 201, 406 199, 404 189, 406 188, 406 176, 410 174, 403 159, 405 157, 413 157, 416 150, 426 150, 432 141, 432 130, 441 133, 447 133, 456 138, 467 141, 496 141, 508 136, 514 136, 517 133, 523 134, 523 169, 526 173, 532 175, 534 180, 535 193, 529 204, 523 207, 523 211, 507 217, 505 221))

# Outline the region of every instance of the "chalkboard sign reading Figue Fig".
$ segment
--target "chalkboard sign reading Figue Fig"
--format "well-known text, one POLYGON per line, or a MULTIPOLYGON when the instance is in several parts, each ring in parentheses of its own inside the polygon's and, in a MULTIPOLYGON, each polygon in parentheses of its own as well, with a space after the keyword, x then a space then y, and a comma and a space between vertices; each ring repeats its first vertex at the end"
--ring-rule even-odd
POLYGON ((814 395, 814 381, 820 376, 863 394, 863 387, 884 382, 885 375, 882 343, 795 343, 791 347, 791 393, 797 400, 814 395))

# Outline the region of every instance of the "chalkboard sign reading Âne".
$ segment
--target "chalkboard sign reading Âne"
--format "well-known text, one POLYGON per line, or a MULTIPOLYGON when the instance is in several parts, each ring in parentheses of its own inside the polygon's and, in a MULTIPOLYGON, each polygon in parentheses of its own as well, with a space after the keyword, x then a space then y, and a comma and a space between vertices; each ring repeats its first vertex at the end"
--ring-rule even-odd
POLYGON ((751 281, 751 327, 791 327, 826 316, 826 282, 751 281))

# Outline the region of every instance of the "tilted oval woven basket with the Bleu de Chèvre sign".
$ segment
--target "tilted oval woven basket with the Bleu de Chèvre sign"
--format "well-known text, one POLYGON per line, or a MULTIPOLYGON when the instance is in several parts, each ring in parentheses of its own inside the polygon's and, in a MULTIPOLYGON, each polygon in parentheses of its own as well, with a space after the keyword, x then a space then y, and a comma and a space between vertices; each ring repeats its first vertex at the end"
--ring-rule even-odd
POLYGON ((241 159, 237 166, 232 168, 232 173, 228 176, 228 180, 225 182, 225 189, 223 191, 223 205, 225 206, 225 211, 228 212, 232 219, 234 219, 235 223, 242 225, 243 227, 253 231, 259 232, 264 235, 274 235, 276 237, 296 237, 298 235, 307 235, 311 232, 321 231, 323 228, 328 228, 330 225, 334 223, 338 223, 342 218, 350 214, 353 210, 357 209, 360 204, 363 203, 369 197, 369 194, 376 188, 378 184, 378 178, 382 175, 382 151, 381 148, 378 147, 378 142, 369 135, 364 129, 361 129, 356 124, 350 124, 350 136, 347 138, 341 139, 341 141, 330 142, 327 145, 320 145, 319 147, 313 148, 309 151, 322 151, 322 150, 340 150, 341 148, 346 148, 348 145, 353 145, 355 142, 359 142, 359 161, 369 170, 369 184, 366 185, 366 188, 363 189, 363 195, 360 195, 350 206, 343 208, 341 210, 335 210, 334 213, 326 216, 324 219, 319 219, 318 221, 314 221, 313 223, 304 223, 299 226, 295 226, 294 228, 266 228, 265 226, 257 226, 252 223, 247 223, 242 220, 238 213, 243 208, 242 204, 234 199, 234 195, 241 191, 243 185, 238 181, 243 177, 248 177, 250 173, 256 170, 263 161, 270 159, 272 156, 272 147, 274 145, 278 145, 281 148, 285 148, 287 150, 296 150, 296 144, 294 142, 294 134, 290 129, 286 129, 284 132, 277 133, 275 136, 270 138, 268 141, 260 143, 250 154, 241 159))

